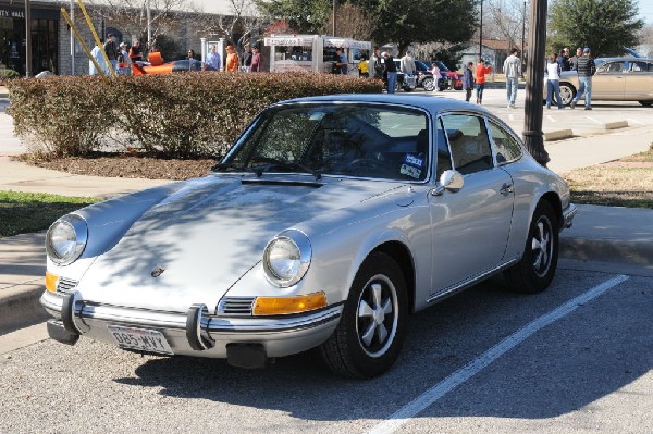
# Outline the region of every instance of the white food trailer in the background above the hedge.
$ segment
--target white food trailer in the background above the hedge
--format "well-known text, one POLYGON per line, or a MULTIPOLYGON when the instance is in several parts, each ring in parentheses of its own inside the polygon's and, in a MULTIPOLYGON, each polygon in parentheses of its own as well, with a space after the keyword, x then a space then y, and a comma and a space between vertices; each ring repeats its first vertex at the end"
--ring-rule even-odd
POLYGON ((348 75, 358 75, 360 55, 369 59, 372 44, 325 35, 271 35, 264 39, 270 47, 270 71, 306 71, 330 73, 335 50, 342 48, 349 63, 348 75))

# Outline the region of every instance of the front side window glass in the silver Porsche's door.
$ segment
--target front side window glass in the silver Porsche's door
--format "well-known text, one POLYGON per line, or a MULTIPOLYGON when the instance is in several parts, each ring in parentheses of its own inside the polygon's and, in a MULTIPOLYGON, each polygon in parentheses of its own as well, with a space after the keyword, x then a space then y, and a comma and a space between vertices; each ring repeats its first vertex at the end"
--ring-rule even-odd
POLYGON ((492 151, 482 117, 452 114, 442 117, 454 169, 464 175, 492 169, 492 151))

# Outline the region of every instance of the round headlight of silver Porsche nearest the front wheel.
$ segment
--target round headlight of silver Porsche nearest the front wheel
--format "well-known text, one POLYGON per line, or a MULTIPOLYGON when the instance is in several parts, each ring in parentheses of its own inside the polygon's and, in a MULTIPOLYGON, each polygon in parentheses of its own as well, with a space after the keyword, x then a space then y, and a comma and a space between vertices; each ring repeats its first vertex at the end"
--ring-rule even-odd
POLYGON ((263 269, 273 284, 287 287, 304 277, 310 265, 310 241, 299 231, 284 231, 268 243, 263 269))

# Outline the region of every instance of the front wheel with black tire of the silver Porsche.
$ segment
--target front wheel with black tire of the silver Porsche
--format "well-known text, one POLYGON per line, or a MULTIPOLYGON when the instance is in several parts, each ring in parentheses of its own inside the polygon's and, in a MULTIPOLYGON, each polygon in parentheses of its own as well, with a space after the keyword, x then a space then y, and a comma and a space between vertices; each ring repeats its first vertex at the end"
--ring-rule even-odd
POLYGON ((407 317, 402 270, 390 256, 370 253, 354 278, 340 324, 320 347, 322 360, 345 377, 381 375, 399 355, 407 317))

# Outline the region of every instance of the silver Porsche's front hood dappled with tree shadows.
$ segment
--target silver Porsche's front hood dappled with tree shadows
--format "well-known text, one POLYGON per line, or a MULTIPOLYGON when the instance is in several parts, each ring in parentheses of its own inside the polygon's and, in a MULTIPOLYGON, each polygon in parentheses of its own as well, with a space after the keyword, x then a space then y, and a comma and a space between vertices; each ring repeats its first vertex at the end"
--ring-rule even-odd
POLYGON ((78 285, 83 298, 163 311, 201 302, 212 311, 279 232, 401 186, 310 179, 215 175, 186 182, 94 262, 78 285))

